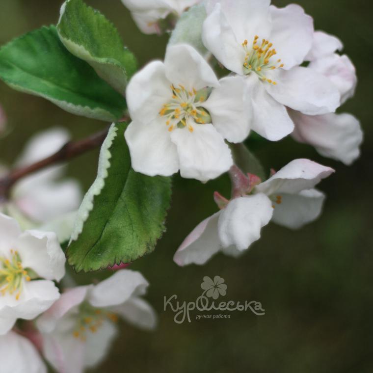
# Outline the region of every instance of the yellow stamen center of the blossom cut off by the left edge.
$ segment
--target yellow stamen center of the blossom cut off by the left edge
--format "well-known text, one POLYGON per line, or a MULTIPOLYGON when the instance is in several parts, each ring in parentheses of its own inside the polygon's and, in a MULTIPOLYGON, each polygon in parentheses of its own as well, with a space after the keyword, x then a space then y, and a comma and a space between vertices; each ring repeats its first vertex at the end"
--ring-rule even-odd
POLYGON ((23 289, 23 280, 30 281, 31 278, 22 266, 21 257, 17 251, 10 250, 10 259, 0 257, 0 293, 16 294, 19 300, 23 289))

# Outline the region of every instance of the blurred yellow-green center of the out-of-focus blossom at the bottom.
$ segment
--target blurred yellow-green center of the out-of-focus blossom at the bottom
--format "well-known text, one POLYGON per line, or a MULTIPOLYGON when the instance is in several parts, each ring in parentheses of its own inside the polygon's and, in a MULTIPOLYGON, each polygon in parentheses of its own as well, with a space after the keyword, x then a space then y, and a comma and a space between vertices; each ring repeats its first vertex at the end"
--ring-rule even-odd
POLYGON ((88 303, 82 303, 73 336, 85 342, 88 333, 96 333, 105 319, 117 322, 118 316, 112 312, 92 307, 88 303))

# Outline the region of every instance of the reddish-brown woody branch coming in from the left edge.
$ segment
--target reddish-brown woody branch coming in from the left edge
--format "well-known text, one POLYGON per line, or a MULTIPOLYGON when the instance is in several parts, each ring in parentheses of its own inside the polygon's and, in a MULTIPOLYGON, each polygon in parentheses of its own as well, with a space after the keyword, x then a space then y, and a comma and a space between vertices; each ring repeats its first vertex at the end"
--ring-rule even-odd
POLYGON ((0 178, 0 202, 7 199, 10 188, 23 177, 46 168, 50 165, 65 162, 80 156, 92 149, 95 149, 104 142, 107 135, 107 129, 78 141, 69 141, 58 152, 52 156, 40 160, 29 166, 18 168, 9 172, 3 178, 0 178))

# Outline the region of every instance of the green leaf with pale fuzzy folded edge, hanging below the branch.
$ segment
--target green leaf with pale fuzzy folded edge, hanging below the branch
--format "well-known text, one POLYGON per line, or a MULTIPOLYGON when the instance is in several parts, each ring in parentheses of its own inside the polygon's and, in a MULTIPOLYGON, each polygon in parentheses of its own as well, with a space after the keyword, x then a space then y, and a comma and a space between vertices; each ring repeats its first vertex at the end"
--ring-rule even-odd
POLYGON ((77 271, 133 262, 152 252, 164 231, 170 178, 133 171, 126 126, 110 127, 97 178, 80 206, 67 249, 69 264, 77 271))

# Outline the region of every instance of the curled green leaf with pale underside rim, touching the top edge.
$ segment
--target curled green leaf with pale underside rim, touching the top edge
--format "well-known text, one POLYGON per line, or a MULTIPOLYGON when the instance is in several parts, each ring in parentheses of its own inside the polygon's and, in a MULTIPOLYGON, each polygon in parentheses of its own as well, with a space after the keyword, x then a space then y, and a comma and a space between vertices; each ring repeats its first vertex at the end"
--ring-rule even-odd
POLYGON ((103 14, 82 0, 67 0, 61 7, 57 30, 71 53, 88 62, 102 79, 124 94, 136 71, 136 59, 103 14))

